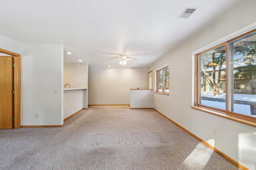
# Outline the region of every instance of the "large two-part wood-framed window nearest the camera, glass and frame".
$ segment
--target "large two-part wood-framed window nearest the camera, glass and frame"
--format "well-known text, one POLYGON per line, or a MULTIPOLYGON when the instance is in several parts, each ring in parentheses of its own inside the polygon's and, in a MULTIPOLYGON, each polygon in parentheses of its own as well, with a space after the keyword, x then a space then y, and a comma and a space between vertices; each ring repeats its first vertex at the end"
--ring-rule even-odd
POLYGON ((256 126, 256 30, 198 53, 195 59, 197 109, 256 126))

